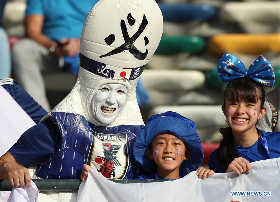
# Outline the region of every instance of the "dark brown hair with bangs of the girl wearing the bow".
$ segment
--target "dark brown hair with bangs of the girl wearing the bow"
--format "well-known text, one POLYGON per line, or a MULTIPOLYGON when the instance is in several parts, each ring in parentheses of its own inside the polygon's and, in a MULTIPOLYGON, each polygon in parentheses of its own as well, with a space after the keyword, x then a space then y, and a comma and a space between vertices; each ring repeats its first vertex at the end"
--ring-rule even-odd
MULTIPOLYGON (((222 108, 225 108, 226 99, 230 102, 244 101, 247 103, 257 103, 260 100, 262 109, 265 101, 265 91, 260 83, 249 77, 238 78, 230 81, 226 86, 222 108)), ((229 126, 224 131, 223 139, 217 151, 216 163, 220 168, 226 170, 233 159, 238 156, 233 149, 232 129, 229 126)))

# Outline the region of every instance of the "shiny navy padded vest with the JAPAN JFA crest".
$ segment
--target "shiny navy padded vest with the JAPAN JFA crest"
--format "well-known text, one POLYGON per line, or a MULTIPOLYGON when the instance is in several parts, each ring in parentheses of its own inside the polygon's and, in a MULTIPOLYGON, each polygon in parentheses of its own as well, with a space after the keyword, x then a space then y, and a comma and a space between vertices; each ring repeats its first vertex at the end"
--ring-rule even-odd
POLYGON ((97 126, 82 115, 66 112, 52 112, 51 116, 59 128, 60 143, 54 155, 38 164, 36 176, 77 179, 83 164, 111 179, 133 179, 140 174, 133 144, 143 126, 97 126))

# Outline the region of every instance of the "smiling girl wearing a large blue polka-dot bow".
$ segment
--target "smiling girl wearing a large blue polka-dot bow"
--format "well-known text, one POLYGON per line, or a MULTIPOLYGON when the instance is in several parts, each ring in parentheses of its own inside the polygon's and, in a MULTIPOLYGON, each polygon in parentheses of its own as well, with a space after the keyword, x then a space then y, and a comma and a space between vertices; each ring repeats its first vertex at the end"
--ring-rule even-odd
POLYGON ((209 169, 240 175, 250 172, 251 162, 280 157, 280 133, 256 128, 266 112, 263 85, 272 87, 275 81, 271 64, 261 55, 246 71, 238 58, 225 53, 217 72, 223 83, 229 82, 222 105, 229 126, 220 129, 223 139, 210 155, 209 169))

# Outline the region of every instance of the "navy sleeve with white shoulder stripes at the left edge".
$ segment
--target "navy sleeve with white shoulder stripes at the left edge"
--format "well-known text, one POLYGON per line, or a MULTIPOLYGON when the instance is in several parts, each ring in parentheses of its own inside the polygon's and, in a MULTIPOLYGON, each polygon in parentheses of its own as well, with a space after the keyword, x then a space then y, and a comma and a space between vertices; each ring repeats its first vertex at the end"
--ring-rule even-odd
POLYGON ((3 79, 0 84, 36 124, 48 113, 15 80, 3 79))

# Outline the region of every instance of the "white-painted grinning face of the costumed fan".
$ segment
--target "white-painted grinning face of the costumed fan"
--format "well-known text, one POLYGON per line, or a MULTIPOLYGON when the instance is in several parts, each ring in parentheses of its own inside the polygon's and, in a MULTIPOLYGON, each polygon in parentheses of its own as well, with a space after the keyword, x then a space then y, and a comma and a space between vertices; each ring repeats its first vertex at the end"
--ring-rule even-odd
POLYGON ((93 117, 104 125, 116 120, 125 106, 127 89, 122 84, 104 84, 93 95, 91 109, 93 117))

